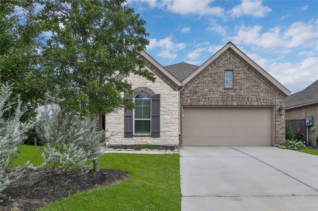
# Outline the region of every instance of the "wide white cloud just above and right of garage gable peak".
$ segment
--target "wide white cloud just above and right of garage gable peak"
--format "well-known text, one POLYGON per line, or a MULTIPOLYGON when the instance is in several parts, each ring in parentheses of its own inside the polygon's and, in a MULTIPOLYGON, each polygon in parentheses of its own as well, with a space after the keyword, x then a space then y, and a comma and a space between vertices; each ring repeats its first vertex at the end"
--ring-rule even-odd
POLYGON ((241 26, 236 29, 235 36, 225 37, 223 41, 232 40, 237 44, 255 45, 269 49, 294 48, 306 44, 318 36, 318 29, 311 22, 294 22, 285 32, 281 32, 280 27, 275 27, 261 33, 262 27, 260 25, 241 26))

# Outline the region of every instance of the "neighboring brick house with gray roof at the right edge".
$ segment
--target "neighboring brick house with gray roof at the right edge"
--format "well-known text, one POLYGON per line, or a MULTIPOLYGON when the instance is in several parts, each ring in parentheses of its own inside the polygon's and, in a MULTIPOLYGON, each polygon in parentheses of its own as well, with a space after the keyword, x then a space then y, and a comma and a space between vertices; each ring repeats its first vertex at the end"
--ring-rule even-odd
POLYGON ((310 116, 314 117, 314 125, 308 128, 308 144, 316 145, 318 131, 317 129, 315 129, 315 131, 311 131, 311 128, 318 127, 318 80, 304 90, 286 97, 287 120, 305 120, 310 116))

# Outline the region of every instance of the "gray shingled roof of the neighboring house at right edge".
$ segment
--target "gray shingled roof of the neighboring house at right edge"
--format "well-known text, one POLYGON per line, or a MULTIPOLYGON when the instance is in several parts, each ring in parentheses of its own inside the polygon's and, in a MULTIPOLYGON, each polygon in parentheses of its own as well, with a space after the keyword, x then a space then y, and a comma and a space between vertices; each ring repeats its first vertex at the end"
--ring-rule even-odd
POLYGON ((286 107, 301 105, 318 100, 318 80, 304 90, 286 97, 286 107))

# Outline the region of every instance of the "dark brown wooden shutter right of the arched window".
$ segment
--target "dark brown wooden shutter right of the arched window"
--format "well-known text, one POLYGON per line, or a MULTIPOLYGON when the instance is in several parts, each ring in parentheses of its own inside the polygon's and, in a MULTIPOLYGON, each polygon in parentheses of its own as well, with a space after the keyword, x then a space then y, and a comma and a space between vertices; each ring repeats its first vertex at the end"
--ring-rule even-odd
POLYGON ((160 137, 160 94, 151 96, 151 137, 160 137))

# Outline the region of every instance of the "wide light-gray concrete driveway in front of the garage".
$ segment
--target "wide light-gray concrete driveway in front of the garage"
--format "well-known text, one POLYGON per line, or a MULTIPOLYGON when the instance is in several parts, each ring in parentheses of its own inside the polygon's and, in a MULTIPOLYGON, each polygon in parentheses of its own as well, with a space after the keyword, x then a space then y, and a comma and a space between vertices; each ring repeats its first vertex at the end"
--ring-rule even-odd
POLYGON ((278 147, 182 147, 182 210, 318 210, 318 156, 278 147))

